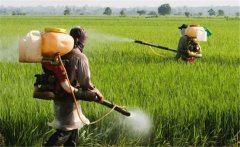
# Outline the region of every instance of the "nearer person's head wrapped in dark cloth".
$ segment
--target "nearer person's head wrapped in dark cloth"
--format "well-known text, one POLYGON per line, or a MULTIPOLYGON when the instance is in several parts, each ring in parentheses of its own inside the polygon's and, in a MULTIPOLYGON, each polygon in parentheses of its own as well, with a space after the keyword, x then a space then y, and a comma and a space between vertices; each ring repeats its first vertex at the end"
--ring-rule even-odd
POLYGON ((84 29, 80 26, 73 27, 70 30, 70 35, 74 39, 74 47, 78 47, 82 52, 87 39, 87 35, 84 29))

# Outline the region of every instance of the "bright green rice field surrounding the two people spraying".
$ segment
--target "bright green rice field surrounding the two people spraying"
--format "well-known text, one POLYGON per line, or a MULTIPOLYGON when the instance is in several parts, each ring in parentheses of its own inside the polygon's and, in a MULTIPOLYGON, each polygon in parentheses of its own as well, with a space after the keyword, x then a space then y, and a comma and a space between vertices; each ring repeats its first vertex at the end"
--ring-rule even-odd
MULTIPOLYGON (((30 30, 42 31, 49 26, 69 30, 76 25, 83 26, 89 34, 84 51, 96 87, 106 99, 127 108, 139 108, 153 121, 150 135, 134 136, 127 126, 119 124, 124 117, 113 112, 99 123, 81 129, 79 145, 236 144, 240 120, 239 34, 236 33, 239 20, 82 16, 1 16, 0 19, 0 133, 6 145, 41 146, 53 132, 47 126, 53 119, 52 102, 32 98, 34 74, 41 73, 40 64, 18 63, 7 57, 17 54, 18 39, 30 30), (180 37, 176 28, 183 22, 201 24, 217 34, 200 43, 203 58, 194 64, 175 61, 171 52, 158 49, 153 52, 133 42, 104 41, 104 37, 94 36, 102 32, 176 48, 180 37)), ((91 121, 109 111, 95 103, 82 102, 81 106, 91 121)))

